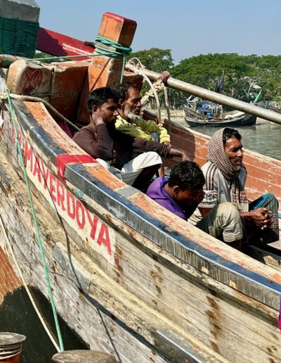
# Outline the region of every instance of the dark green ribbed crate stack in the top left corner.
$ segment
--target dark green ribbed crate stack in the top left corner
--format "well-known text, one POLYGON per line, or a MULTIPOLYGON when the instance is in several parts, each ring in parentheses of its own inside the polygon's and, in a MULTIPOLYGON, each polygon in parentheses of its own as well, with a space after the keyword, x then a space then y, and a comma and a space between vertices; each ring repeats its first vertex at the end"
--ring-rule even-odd
POLYGON ((0 53, 32 58, 38 32, 39 23, 0 16, 0 53))

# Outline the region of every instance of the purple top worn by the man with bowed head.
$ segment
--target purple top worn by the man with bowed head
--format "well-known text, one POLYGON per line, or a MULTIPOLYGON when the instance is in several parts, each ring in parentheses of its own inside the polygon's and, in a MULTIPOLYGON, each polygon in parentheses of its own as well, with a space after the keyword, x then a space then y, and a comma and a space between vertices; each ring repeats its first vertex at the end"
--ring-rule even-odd
POLYGON ((152 181, 150 186, 148 187, 148 191, 146 194, 155 200, 159 205, 166 208, 170 212, 173 212, 178 217, 181 217, 187 220, 190 215, 194 212, 195 208, 188 208, 188 210, 183 210, 183 208, 176 203, 176 200, 171 198, 169 194, 165 191, 164 185, 169 181, 166 177, 161 177, 152 181))

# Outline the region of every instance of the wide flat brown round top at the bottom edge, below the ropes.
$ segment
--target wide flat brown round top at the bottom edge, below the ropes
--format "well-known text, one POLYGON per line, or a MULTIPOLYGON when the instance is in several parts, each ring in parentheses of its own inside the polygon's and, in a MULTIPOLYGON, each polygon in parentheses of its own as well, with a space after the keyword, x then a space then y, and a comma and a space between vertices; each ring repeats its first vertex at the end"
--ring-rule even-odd
POLYGON ((57 363, 116 363, 113 355, 93 350, 68 350, 53 355, 57 363))

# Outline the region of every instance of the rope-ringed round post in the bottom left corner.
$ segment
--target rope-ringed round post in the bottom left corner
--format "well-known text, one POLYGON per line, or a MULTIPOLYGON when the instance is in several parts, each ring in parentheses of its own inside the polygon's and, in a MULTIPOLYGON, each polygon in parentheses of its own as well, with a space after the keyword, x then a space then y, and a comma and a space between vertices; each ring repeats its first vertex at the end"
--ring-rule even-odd
POLYGON ((17 333, 0 333, 0 362, 19 363, 25 338, 17 333))

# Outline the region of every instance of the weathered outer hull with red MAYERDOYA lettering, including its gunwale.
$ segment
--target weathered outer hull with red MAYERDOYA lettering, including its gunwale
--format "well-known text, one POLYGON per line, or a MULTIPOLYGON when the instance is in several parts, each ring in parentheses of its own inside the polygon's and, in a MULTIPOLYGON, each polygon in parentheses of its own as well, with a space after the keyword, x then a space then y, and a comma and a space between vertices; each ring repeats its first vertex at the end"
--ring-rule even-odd
MULTIPOLYGON (((99 165, 67 165, 64 185, 57 155, 79 148, 40 103, 14 106, 58 312, 92 349, 124 362, 162 362, 178 344, 189 347, 185 358, 197 354, 217 362, 239 362, 240 354, 254 362, 268 357, 267 347, 274 347, 270 357, 280 355, 276 271, 155 208, 99 165), (261 330, 253 333, 253 326, 261 330), (239 353, 231 348, 234 339, 239 353)), ((1 217, 28 284, 47 295, 13 135, 8 123, 1 134, 1 171, 13 183, 1 180, 1 217)), ((192 138, 197 148, 207 145, 206 138, 178 127, 172 137, 185 144, 189 138, 190 153, 192 138)))

